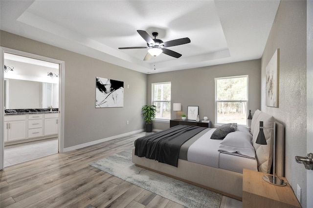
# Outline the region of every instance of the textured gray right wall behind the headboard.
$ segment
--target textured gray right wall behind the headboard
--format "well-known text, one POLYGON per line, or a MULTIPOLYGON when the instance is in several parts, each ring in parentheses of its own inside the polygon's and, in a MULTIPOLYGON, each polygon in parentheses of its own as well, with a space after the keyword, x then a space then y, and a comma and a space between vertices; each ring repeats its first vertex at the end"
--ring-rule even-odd
MULTIPOLYGON (((306 153, 306 1, 281 1, 262 57, 261 109, 285 124, 285 176, 302 188, 306 207, 306 170, 294 156, 306 153), (265 104, 266 66, 280 49, 279 107, 265 104)), ((312 128, 312 126, 311 126, 312 128)))

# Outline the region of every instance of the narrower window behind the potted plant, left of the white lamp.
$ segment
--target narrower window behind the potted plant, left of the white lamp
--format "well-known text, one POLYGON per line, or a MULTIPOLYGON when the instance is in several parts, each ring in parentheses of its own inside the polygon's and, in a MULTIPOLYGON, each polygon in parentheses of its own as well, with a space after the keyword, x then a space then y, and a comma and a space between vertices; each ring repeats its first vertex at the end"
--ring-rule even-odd
POLYGON ((152 84, 152 104, 156 105, 156 120, 171 119, 171 83, 152 84))

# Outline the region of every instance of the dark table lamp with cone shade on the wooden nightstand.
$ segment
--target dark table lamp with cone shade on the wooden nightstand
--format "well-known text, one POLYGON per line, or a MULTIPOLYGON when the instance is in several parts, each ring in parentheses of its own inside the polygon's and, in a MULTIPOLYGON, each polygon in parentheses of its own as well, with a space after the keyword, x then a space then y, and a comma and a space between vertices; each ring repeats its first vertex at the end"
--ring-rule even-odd
POLYGON ((274 128, 265 128, 263 127, 263 122, 260 121, 260 131, 258 134, 258 138, 256 139, 255 143, 259 145, 267 145, 265 135, 264 135, 264 129, 273 129, 274 130, 274 137, 273 137, 273 175, 264 175, 262 178, 266 182, 275 185, 275 186, 286 186, 287 183, 283 180, 280 179, 276 173, 275 173, 275 159, 276 159, 276 132, 275 132, 275 122, 274 122, 274 128))

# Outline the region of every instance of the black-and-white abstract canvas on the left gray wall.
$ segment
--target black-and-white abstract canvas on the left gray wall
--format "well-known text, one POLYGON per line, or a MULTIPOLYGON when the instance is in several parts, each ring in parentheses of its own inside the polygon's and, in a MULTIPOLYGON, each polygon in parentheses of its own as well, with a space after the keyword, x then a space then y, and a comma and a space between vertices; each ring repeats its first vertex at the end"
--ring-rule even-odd
POLYGON ((123 107, 124 82, 96 77, 96 108, 123 107))

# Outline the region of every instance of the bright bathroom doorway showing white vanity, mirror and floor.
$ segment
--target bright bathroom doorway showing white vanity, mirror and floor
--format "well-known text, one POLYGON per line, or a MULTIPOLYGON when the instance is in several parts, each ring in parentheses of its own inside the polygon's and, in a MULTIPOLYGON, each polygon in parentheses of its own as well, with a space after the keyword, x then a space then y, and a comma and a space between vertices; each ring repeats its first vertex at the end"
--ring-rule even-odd
POLYGON ((2 52, 0 169, 63 150, 59 101, 64 62, 10 49, 2 52))

